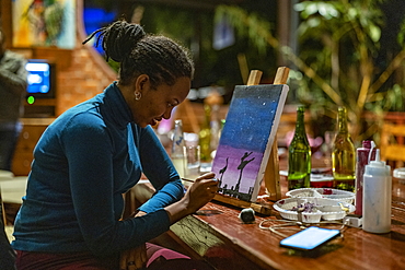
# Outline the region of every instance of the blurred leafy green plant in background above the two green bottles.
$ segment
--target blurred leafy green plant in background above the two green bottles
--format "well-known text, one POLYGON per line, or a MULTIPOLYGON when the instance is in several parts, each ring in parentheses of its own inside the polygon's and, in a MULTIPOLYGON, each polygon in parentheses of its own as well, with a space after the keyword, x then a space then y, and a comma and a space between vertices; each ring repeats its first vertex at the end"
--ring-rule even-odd
POLYGON ((346 106, 350 133, 359 144, 378 133, 385 111, 404 110, 405 16, 397 24, 395 49, 390 51, 391 56, 384 56, 381 47, 386 22, 384 2, 342 0, 296 4, 301 17, 297 31, 299 52, 281 46, 269 23, 256 14, 220 5, 216 17, 227 16, 239 34, 247 35, 261 48, 258 51, 271 46, 290 60, 293 67, 289 84, 297 101, 310 108, 314 127, 324 127, 317 130, 319 134, 334 128, 337 107, 346 106), (367 117, 370 114, 372 117, 367 117))

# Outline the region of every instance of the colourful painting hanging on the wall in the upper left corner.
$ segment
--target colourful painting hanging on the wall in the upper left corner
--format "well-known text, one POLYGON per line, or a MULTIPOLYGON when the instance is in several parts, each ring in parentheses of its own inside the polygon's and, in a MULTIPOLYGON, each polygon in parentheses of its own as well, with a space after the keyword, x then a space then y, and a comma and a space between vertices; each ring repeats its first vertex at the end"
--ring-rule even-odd
POLYGON ((76 0, 12 1, 13 47, 76 45, 76 0))

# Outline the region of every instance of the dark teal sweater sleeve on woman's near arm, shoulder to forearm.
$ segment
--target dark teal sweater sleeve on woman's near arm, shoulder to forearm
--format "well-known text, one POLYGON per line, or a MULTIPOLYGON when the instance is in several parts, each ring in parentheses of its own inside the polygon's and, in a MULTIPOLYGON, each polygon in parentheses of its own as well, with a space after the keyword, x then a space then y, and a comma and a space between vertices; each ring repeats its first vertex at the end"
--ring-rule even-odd
POLYGON ((114 211, 120 193, 114 193, 113 141, 99 116, 78 115, 61 136, 69 165, 73 208, 83 238, 95 255, 136 247, 169 230, 167 213, 117 221, 114 211))

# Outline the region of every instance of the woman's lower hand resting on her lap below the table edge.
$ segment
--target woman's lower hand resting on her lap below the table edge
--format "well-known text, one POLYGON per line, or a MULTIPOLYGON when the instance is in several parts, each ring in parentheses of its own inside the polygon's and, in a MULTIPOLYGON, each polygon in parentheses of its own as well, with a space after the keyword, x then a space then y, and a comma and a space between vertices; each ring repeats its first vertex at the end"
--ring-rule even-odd
POLYGON ((127 249, 121 253, 119 258, 119 269, 120 270, 137 270, 143 269, 146 267, 147 257, 147 246, 146 244, 139 247, 127 249))

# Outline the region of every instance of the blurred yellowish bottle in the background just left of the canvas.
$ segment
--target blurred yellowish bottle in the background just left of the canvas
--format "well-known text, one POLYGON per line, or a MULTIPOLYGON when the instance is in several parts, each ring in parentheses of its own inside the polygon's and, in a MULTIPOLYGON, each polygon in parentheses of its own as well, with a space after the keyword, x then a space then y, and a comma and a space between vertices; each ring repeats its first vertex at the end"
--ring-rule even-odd
POLYGON ((204 105, 204 122, 201 129, 198 133, 199 146, 200 146, 200 157, 201 162, 211 161, 211 108, 208 104, 204 105))

